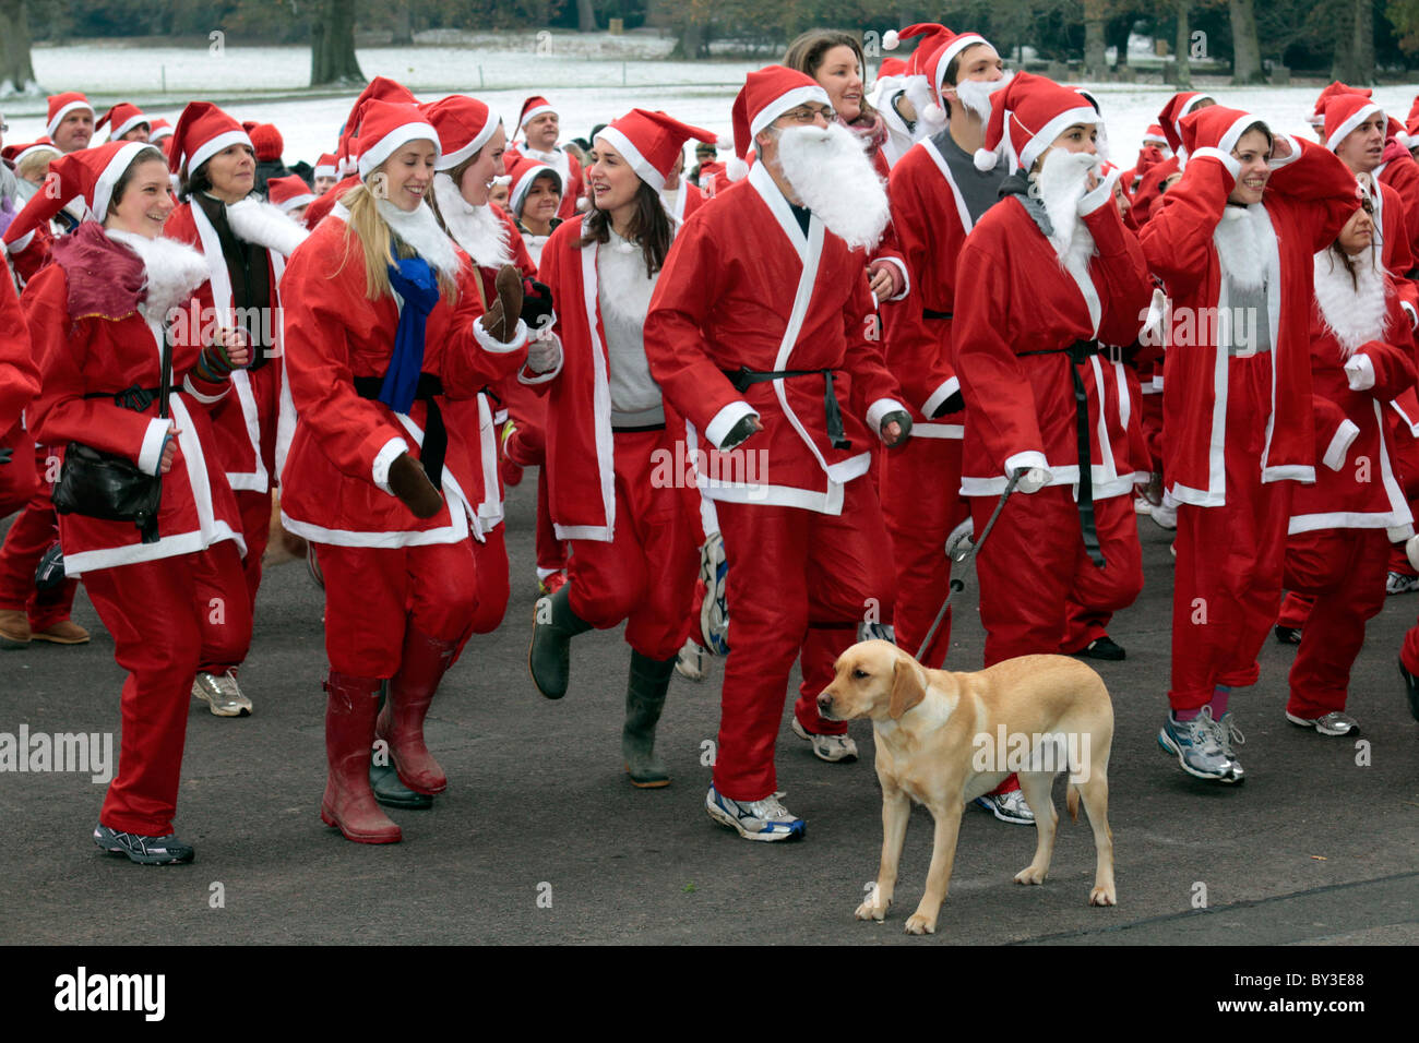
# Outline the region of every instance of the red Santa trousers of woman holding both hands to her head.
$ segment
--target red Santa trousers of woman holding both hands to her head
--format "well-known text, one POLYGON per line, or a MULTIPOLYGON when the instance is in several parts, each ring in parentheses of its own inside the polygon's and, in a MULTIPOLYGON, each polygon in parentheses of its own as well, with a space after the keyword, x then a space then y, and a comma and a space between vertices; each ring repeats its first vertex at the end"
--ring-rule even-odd
POLYGON ((1172 586, 1176 710, 1200 710, 1219 684, 1256 684, 1256 656, 1281 607, 1290 481, 1261 481, 1271 355, 1229 359, 1226 500, 1178 505, 1172 586))

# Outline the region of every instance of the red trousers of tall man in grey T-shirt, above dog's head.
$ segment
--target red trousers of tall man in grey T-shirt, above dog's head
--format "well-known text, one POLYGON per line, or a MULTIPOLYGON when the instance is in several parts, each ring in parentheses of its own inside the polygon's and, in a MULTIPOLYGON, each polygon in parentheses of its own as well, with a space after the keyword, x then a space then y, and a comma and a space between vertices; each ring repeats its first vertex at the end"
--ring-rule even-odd
MULTIPOLYGON (((971 514, 961 495, 961 440, 908 438, 883 460, 881 504, 897 568, 897 643, 912 656, 951 583, 946 536, 971 514)), ((951 647, 951 610, 918 657, 941 670, 951 647)), ((822 691, 822 690, 819 690, 822 691)))

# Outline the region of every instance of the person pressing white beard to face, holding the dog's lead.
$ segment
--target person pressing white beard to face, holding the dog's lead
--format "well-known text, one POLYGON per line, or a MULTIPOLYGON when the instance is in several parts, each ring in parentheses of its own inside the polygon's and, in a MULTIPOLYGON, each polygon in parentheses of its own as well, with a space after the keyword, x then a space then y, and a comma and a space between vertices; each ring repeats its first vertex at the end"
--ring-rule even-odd
MULTIPOLYGON (((1132 474, 1114 457, 1100 343, 1131 343, 1151 287, 1101 175, 1100 116, 1019 72, 990 99, 976 166, 1016 169, 956 263, 952 353, 965 399, 961 491, 976 534, 985 664, 1057 653, 1069 606, 1117 612, 1142 589, 1132 474), (1081 365, 1084 363, 1084 365, 1081 365), (1094 380, 1094 407, 1086 380, 1094 380), (1027 590, 1020 562, 1032 562, 1027 590)), ((1032 803, 1046 795, 1025 796, 1032 803)))

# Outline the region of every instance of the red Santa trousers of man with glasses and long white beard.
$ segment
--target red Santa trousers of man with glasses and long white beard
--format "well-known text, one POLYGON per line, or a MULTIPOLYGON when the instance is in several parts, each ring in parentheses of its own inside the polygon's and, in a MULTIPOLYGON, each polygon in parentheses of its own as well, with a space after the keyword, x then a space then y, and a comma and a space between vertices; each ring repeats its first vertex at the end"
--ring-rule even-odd
MULTIPOLYGON (((803 649, 805 688, 816 697, 860 623, 893 622, 891 551, 866 475, 847 482, 840 515, 724 500, 715 509, 729 563, 729 657, 714 785, 734 800, 762 800, 778 789, 773 744, 793 660, 803 649)), ((830 724, 843 722, 809 729, 830 724)))

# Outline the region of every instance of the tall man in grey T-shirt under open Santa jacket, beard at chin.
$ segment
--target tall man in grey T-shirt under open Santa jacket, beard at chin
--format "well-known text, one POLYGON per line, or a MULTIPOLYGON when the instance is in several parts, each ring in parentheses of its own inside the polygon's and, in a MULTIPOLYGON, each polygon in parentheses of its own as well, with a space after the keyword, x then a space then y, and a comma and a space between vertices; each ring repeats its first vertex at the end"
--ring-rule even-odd
MULTIPOLYGON (((912 438, 883 461, 881 504, 897 568, 897 640, 941 668, 951 647, 949 609, 931 643, 921 646, 951 580, 946 539, 971 515, 961 497, 965 403, 951 363, 956 258, 975 223, 999 200, 1009 170, 1005 156, 989 170, 975 166, 990 95, 1007 84, 999 54, 976 33, 937 28, 942 33, 934 37, 935 51, 922 60, 924 43, 912 60, 932 89, 920 109, 922 125, 945 126, 907 150, 887 189, 912 289, 883 308, 883 339, 911 406, 912 438)), ((1034 820, 1013 779, 981 803, 1002 822, 1034 820)))

